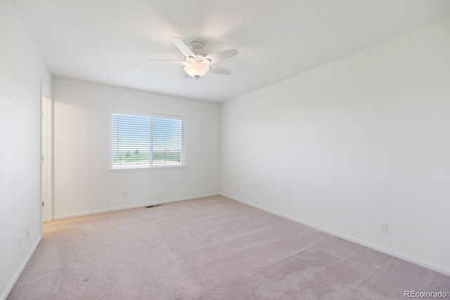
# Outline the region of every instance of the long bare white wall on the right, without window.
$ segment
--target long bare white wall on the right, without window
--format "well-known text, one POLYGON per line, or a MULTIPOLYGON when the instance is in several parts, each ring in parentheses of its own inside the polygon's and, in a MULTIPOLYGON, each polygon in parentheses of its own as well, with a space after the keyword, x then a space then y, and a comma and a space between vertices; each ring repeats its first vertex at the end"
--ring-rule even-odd
POLYGON ((447 19, 223 103, 221 193, 450 275, 449 129, 447 19))

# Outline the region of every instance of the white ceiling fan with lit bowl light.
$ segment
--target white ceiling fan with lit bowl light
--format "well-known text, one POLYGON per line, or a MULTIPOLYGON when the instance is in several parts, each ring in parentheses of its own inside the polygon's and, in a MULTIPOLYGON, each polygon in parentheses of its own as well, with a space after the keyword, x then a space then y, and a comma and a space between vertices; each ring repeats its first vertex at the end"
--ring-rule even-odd
POLYGON ((227 58, 231 58, 236 56, 239 52, 236 49, 229 49, 224 51, 219 51, 216 53, 208 54, 203 47, 201 41, 191 41, 189 46, 181 41, 181 39, 177 37, 172 37, 172 41, 174 41, 175 46, 179 48, 179 51, 183 53, 186 57, 186 61, 176 61, 176 60, 153 60, 153 61, 167 61, 170 63, 176 63, 178 65, 184 65, 184 70, 186 74, 195 79, 199 79, 200 77, 205 76, 208 71, 229 75, 231 74, 230 70, 226 70, 223 67, 219 67, 218 65, 213 65, 221 60, 226 60, 227 58))

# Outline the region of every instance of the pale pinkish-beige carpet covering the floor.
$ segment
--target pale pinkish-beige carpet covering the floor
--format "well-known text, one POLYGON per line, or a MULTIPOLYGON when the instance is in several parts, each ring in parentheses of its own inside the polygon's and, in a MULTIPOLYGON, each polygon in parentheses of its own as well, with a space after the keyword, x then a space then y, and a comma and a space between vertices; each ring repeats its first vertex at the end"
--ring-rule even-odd
POLYGON ((450 277, 229 200, 207 197, 64 219, 13 299, 450 297, 450 277))

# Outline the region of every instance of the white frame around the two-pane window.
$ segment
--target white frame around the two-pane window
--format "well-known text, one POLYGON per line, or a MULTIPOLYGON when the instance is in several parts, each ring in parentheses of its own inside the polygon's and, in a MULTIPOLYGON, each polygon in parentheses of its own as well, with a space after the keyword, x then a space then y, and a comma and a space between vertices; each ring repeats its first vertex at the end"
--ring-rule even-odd
POLYGON ((167 169, 167 168, 180 168, 186 167, 185 164, 185 143, 184 143, 184 117, 179 116, 170 116, 170 115, 155 115, 155 114, 142 114, 136 112, 120 112, 115 111, 111 113, 111 133, 110 133, 110 147, 111 147, 111 159, 110 159, 110 169, 112 171, 129 171, 129 170, 145 170, 145 169, 167 169), (129 115, 136 117, 146 117, 150 120, 150 157, 148 165, 131 165, 131 166, 115 166, 114 165, 114 115, 129 115), (153 164, 153 136, 152 136, 152 128, 151 128, 151 119, 176 119, 181 121, 181 162, 178 164, 153 164))

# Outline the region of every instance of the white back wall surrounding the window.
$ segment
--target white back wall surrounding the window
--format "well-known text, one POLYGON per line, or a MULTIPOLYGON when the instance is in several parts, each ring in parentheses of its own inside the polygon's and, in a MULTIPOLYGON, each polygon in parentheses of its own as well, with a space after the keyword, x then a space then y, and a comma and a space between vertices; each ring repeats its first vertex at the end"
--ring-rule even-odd
POLYGON ((63 78, 53 98, 56 219, 219 193, 219 104, 63 78), (184 117, 186 167, 111 171, 113 110, 184 117))

